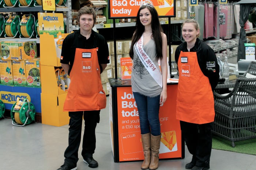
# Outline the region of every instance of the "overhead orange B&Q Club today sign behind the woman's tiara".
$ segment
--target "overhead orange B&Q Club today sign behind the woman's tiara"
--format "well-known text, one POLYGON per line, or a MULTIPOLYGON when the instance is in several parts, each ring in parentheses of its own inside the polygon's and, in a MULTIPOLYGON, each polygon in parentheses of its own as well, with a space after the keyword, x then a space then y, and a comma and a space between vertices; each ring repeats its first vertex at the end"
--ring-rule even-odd
MULTIPOLYGON (((174 17, 174 0, 151 1, 160 17, 174 17)), ((108 0, 110 19, 136 17, 142 2, 143 0, 108 0)))

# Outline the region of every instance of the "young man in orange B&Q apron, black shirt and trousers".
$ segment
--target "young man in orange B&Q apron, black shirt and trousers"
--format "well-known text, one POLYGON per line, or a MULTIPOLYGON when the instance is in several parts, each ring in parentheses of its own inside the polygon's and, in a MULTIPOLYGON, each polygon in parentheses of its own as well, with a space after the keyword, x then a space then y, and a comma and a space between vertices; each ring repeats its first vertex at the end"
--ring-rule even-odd
POLYGON ((63 109, 70 117, 68 147, 64 153, 64 165, 59 170, 77 169, 83 118, 83 161, 91 168, 98 167, 93 158, 95 128, 100 110, 106 107, 100 74, 109 63, 108 44, 102 35, 92 30, 96 22, 93 8, 81 8, 77 20, 80 29, 64 39, 61 51, 61 66, 70 76, 71 83, 63 109))

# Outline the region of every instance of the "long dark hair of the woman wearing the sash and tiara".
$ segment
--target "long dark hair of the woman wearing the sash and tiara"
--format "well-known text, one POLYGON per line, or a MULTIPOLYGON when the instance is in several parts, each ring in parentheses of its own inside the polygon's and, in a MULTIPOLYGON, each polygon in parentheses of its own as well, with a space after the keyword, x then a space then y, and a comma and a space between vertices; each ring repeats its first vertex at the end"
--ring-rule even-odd
POLYGON ((157 10, 155 8, 152 8, 152 7, 148 6, 148 5, 143 5, 142 7, 140 7, 140 9, 137 13, 136 30, 135 30, 134 35, 132 37, 132 44, 131 44, 131 48, 130 48, 130 51, 129 51, 129 55, 130 55, 131 59, 133 59, 133 54, 134 54, 133 46, 140 39, 140 37, 142 36, 142 34, 145 30, 144 25, 142 25, 142 23, 140 22, 140 10, 142 10, 144 8, 148 8, 150 13, 151 13, 151 16, 152 16, 151 28, 152 28, 153 38, 154 38, 154 41, 155 41, 155 47, 156 47, 156 50, 157 50, 157 58, 162 59, 162 57, 163 57, 163 54, 162 54, 162 44, 163 44, 162 32, 163 32, 163 30, 162 30, 162 27, 161 27, 160 22, 159 22, 157 10))

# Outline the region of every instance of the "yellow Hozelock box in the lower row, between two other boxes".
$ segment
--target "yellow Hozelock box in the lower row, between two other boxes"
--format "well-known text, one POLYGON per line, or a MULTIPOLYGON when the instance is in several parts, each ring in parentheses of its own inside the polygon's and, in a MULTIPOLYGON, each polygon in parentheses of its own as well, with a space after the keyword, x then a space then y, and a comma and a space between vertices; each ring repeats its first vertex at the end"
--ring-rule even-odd
POLYGON ((12 60, 12 72, 15 85, 27 86, 25 61, 12 60))

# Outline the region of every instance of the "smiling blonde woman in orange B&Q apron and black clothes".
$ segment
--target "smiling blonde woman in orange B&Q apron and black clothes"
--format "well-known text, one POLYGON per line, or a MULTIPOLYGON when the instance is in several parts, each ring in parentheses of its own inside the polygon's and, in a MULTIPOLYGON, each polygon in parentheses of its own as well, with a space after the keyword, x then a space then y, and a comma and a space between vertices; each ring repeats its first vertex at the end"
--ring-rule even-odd
POLYGON ((185 42, 175 52, 179 72, 176 118, 193 155, 185 168, 208 170, 215 116, 212 90, 218 84, 219 65, 212 48, 198 39, 199 34, 197 21, 188 19, 182 24, 185 42))

